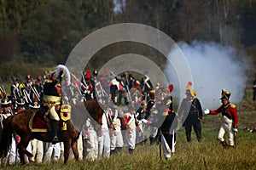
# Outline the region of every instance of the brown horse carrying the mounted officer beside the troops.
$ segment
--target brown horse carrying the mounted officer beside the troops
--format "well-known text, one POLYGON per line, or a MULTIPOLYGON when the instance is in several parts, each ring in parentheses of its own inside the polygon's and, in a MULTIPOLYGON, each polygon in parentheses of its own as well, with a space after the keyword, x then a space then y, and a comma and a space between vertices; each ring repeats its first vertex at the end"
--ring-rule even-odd
MULTIPOLYGON (((80 109, 83 109, 84 106, 87 106, 89 109, 89 113, 96 120, 96 122, 101 123, 101 114, 103 114, 103 110, 99 108, 99 104, 94 101, 86 101, 84 105, 80 106, 80 109), (95 110, 98 108, 98 110, 95 110), (95 111, 94 111, 95 110, 95 111), (100 114, 97 114, 99 112, 100 114), (97 120, 99 119, 99 120, 97 120)), ((83 110, 74 110, 77 116, 81 116, 81 111, 83 110)), ((42 107, 38 110, 39 114, 43 113, 42 107)), ((0 158, 3 156, 7 156, 9 152, 9 147, 13 138, 13 134, 17 134, 20 136, 20 142, 17 144, 18 152, 20 155, 20 163, 25 164, 24 154, 28 157, 32 157, 32 153, 26 150, 27 145, 31 139, 38 139, 44 142, 52 142, 53 136, 49 132, 32 132, 29 127, 30 118, 34 114, 34 111, 25 110, 21 111, 16 115, 12 115, 7 117, 3 122, 3 131, 0 139, 0 158)), ((73 114, 73 111, 72 111, 73 114)), ((64 144, 64 163, 67 163, 69 157, 69 149, 70 147, 73 150, 73 155, 76 161, 79 160, 79 150, 77 140, 79 139, 79 130, 74 127, 73 122, 71 120, 67 120, 67 130, 59 131, 58 138, 59 142, 63 142, 64 144)))

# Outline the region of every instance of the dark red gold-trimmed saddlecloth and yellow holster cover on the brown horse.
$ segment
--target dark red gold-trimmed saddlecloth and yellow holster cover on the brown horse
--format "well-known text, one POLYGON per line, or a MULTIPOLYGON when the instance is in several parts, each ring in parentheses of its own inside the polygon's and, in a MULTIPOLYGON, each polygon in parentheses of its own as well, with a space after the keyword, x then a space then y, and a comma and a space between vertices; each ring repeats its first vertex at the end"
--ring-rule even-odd
MULTIPOLYGON (((61 112, 61 120, 59 121, 59 127, 62 131, 67 130, 66 121, 70 120, 70 114, 67 112, 61 112)), ((29 128, 32 132, 46 133, 49 132, 49 121, 44 119, 44 116, 39 111, 33 111, 29 120, 29 128)))

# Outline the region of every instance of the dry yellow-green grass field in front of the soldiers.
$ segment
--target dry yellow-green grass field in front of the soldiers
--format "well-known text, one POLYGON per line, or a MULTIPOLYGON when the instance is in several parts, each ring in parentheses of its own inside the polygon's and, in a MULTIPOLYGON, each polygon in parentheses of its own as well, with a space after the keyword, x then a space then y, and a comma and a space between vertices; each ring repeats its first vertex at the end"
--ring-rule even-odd
MULTIPOLYGON (((202 123, 202 141, 198 143, 195 133, 192 142, 187 143, 184 129, 177 131, 176 152, 172 159, 160 160, 159 145, 137 145, 133 155, 124 147, 119 154, 96 161, 73 161, 64 165, 63 161, 44 164, 1 166, 1 169, 256 169, 256 133, 245 133, 245 127, 255 127, 256 103, 247 102, 237 105, 239 114, 236 136, 236 149, 224 150, 217 140, 221 117, 205 116, 202 123)), ((162 156, 163 157, 163 156, 162 156)))

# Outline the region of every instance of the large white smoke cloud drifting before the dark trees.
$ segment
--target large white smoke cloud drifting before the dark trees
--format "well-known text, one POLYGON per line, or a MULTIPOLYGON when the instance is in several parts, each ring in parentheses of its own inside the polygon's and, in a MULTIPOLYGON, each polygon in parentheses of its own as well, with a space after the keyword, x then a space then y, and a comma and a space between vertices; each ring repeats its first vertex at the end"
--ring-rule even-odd
MULTIPOLYGON (((216 42, 179 42, 177 45, 188 60, 193 76, 193 80, 190 80, 192 88, 197 91, 203 108, 217 109, 221 105, 219 98, 222 88, 231 92, 231 103, 241 101, 247 82, 245 70, 249 65, 242 58, 243 54, 236 48, 224 47, 216 42)), ((171 50, 168 59, 172 60, 172 56, 178 54, 175 50, 171 50)), ((166 65, 165 74, 178 87, 179 78, 170 62, 166 65)), ((180 88, 184 92, 186 87, 180 88)))

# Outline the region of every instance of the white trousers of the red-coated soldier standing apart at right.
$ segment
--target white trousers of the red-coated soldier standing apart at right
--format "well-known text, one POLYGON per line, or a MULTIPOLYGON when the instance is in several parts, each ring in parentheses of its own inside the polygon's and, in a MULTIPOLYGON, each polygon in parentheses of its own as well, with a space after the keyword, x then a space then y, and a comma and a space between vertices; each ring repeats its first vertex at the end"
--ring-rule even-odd
POLYGON ((233 121, 230 120, 228 117, 223 116, 223 122, 221 124, 221 127, 219 128, 218 131, 218 139, 221 142, 224 142, 224 134, 227 133, 228 137, 229 137, 229 142, 230 142, 230 146, 234 146, 235 145, 235 141, 234 141, 234 131, 233 131, 233 121))

